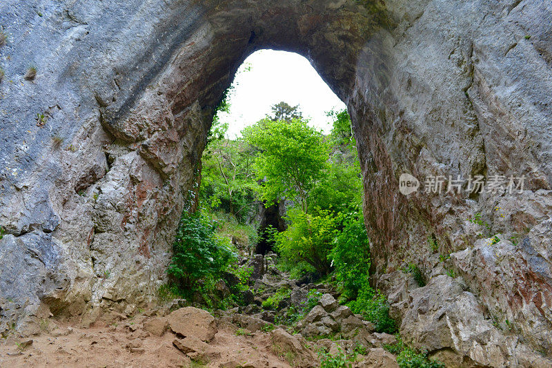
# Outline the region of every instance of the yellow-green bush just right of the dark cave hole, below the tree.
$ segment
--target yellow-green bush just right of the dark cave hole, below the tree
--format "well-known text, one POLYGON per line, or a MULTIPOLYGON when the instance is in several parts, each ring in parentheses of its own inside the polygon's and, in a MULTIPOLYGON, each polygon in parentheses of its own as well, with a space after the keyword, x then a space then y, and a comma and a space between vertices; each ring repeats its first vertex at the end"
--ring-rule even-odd
POLYGON ((276 235, 276 247, 284 258, 310 264, 319 275, 328 275, 328 260, 337 235, 339 219, 333 212, 320 210, 309 215, 300 209, 290 209, 288 229, 276 235))

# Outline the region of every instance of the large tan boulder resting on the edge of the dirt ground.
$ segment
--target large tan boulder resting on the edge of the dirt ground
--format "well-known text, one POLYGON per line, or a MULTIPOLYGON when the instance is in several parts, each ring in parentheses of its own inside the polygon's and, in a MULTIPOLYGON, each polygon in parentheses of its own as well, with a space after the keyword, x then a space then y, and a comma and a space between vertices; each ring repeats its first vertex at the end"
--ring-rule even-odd
POLYGON ((179 336, 210 341, 217 333, 215 318, 208 311, 194 307, 177 309, 167 316, 170 329, 179 336))

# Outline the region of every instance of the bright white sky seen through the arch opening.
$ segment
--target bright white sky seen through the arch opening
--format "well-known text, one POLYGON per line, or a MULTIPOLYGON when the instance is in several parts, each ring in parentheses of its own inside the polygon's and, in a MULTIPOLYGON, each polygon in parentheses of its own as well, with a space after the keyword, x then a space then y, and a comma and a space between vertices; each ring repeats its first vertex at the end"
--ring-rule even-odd
POLYGON ((228 122, 229 138, 237 137, 245 126, 264 118, 270 113, 270 106, 280 101, 300 105, 303 116, 311 118, 311 125, 325 133, 331 130, 326 111, 346 108, 307 59, 274 50, 260 50, 246 59, 229 101, 230 113, 220 115, 221 122, 228 122), (244 72, 246 65, 251 70, 244 72))

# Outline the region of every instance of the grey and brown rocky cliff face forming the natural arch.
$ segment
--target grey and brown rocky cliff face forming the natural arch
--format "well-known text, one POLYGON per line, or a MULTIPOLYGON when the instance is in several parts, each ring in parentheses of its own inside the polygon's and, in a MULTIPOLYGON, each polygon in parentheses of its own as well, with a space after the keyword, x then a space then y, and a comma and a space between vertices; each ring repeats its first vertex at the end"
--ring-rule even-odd
POLYGON ((477 318, 435 316, 449 337, 414 329, 413 342, 465 365, 549 354, 551 23, 538 0, 3 1, 0 329, 155 300, 213 109, 251 52, 277 48, 308 57, 348 104, 375 283, 404 297, 403 324, 433 309, 393 289, 393 271, 413 262, 428 288, 453 253, 450 298, 424 290, 477 318), (526 181, 407 197, 402 173, 526 181))

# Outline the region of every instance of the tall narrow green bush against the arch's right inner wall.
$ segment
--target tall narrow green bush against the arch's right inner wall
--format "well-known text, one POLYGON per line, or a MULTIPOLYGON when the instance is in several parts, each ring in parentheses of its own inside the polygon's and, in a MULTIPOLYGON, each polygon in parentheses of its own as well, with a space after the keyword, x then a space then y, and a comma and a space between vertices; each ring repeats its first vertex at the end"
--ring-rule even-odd
POLYGON ((343 289, 343 298, 354 299, 360 290, 369 288, 370 244, 362 213, 339 214, 342 230, 335 237, 330 258, 335 278, 343 289))

